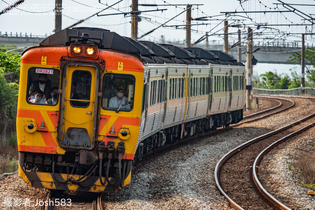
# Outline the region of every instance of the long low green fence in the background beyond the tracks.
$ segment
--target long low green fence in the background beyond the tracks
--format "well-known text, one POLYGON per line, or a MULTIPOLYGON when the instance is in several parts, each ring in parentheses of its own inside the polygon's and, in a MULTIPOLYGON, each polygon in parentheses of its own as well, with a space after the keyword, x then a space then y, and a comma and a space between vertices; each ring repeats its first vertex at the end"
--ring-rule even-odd
MULTIPOLYGON (((301 88, 293 88, 288 90, 269 90, 253 88, 253 94, 269 94, 269 95, 300 95, 301 88)), ((315 96, 315 88, 305 88, 305 94, 315 96)))

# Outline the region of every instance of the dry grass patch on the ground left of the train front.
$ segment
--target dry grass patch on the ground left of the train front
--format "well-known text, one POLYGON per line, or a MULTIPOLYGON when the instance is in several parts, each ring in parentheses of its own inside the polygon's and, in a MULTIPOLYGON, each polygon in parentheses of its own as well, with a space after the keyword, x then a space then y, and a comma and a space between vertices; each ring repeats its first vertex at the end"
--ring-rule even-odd
POLYGON ((12 173, 19 167, 19 152, 16 133, 7 140, 8 144, 0 149, 0 174, 12 173))

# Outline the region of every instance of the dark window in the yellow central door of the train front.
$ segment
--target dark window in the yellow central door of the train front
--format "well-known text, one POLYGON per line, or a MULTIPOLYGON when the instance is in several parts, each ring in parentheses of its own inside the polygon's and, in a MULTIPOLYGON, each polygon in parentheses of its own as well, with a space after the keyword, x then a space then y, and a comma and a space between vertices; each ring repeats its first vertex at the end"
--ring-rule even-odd
POLYGON ((73 107, 88 107, 90 102, 91 78, 89 71, 75 70, 71 78, 70 104, 73 107), (79 100, 79 101, 78 101, 79 100), (83 101, 85 100, 85 101, 83 101))

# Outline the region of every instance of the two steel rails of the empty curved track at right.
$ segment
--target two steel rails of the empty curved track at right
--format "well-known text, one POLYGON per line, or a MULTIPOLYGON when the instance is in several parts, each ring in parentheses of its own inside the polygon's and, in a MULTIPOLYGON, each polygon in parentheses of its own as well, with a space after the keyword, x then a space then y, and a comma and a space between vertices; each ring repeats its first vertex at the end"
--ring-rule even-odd
MULTIPOLYGON (((254 139, 251 139, 250 141, 234 148, 233 150, 231 150, 230 152, 228 152, 226 155, 224 155, 220 161, 217 163, 216 167, 215 167, 215 182, 216 182, 216 185, 217 185, 217 188, 219 189, 219 191, 221 192, 221 194, 226 197, 226 199, 230 202, 231 206, 236 208, 236 209, 239 209, 239 210, 244 210, 244 208, 242 208, 240 205, 238 205, 238 203, 236 201, 233 201, 233 199, 231 199, 226 192, 224 192, 223 190, 223 187, 221 185, 221 170, 224 166, 224 164, 232 157, 234 156, 235 154, 237 154, 238 152, 240 152, 241 150, 244 150, 245 148, 248 148, 252 145, 254 145, 254 143, 256 142, 259 142, 263 139, 266 139, 268 137, 271 137, 277 133, 280 133, 280 132, 283 132, 283 131, 286 131, 298 124, 300 124, 301 122, 305 122, 306 120, 312 118, 312 117, 315 117, 315 113, 309 115, 309 116, 306 116, 296 122, 293 122, 287 126, 284 126, 282 128, 279 128, 275 131, 272 131, 272 132, 269 132, 269 133, 266 133, 264 135, 261 135, 259 137, 256 137, 254 139)), ((313 119, 314 120, 314 119, 313 119)), ((268 147, 266 147, 266 149, 264 149, 255 159, 255 161, 253 162, 252 166, 249 168, 249 179, 250 179, 250 182, 253 184, 253 188, 255 189, 256 193, 262 198, 262 200, 264 200, 269 208, 272 208, 272 209, 286 209, 286 210, 289 210, 290 208, 286 207, 284 204, 282 204, 281 202, 277 201, 277 199, 275 199, 273 196, 271 196, 261 185, 260 183, 260 180, 259 180, 259 176, 258 176, 258 169, 259 169, 259 164, 263 158, 264 155, 266 155, 270 150, 272 150, 272 148, 274 148, 275 146, 279 145, 281 142, 291 138, 292 136, 295 136, 303 131, 305 131, 306 129, 308 128, 311 128, 312 126, 315 125, 315 122, 297 130, 297 131, 294 131, 292 133, 290 133, 289 135, 286 135, 285 137, 281 138, 281 139, 278 139, 276 141, 274 141, 274 143, 272 143, 271 145, 269 145, 268 147), (253 168, 255 168, 255 170, 253 170, 253 168)), ((282 134, 284 135, 284 134, 282 134)), ((255 148, 254 148, 255 149, 255 148)), ((251 147, 250 150, 254 150, 253 147, 251 147)), ((243 169, 242 169, 243 170, 243 169)), ((228 181, 228 180, 227 180, 228 181)), ((231 193, 231 192, 229 192, 231 193)), ((238 194, 238 193, 235 193, 235 194, 238 194)), ((253 206, 252 206, 253 208, 253 206)), ((247 208, 246 208, 247 209, 247 208)))

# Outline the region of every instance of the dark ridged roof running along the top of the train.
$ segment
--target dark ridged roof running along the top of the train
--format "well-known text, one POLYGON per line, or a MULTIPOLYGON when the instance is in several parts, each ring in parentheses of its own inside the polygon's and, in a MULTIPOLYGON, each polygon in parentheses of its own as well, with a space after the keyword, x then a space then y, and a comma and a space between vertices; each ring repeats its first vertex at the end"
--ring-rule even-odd
POLYGON ((140 57, 149 64, 188 64, 188 65, 239 65, 242 63, 224 52, 202 48, 181 48, 171 44, 158 44, 138 41, 102 29, 75 27, 64 29, 44 39, 40 46, 70 46, 72 43, 91 43, 100 49, 112 49, 140 57))

